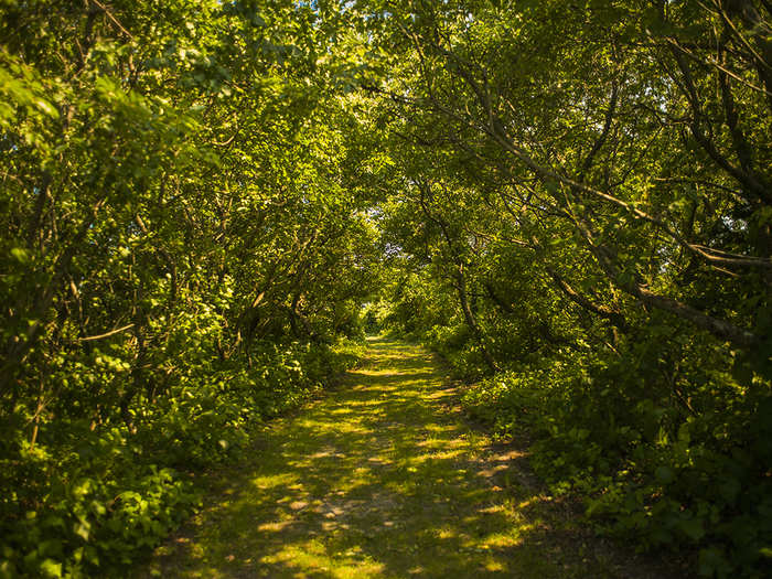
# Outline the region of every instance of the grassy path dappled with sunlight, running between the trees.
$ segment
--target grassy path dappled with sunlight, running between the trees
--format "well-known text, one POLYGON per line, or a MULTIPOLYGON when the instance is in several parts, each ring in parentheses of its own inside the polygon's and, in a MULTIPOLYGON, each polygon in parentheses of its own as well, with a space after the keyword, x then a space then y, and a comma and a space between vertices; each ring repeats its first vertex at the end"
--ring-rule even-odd
POLYGON ((371 341, 363 367, 216 476, 140 577, 668 576, 592 536, 458 397, 426 351, 371 341))

